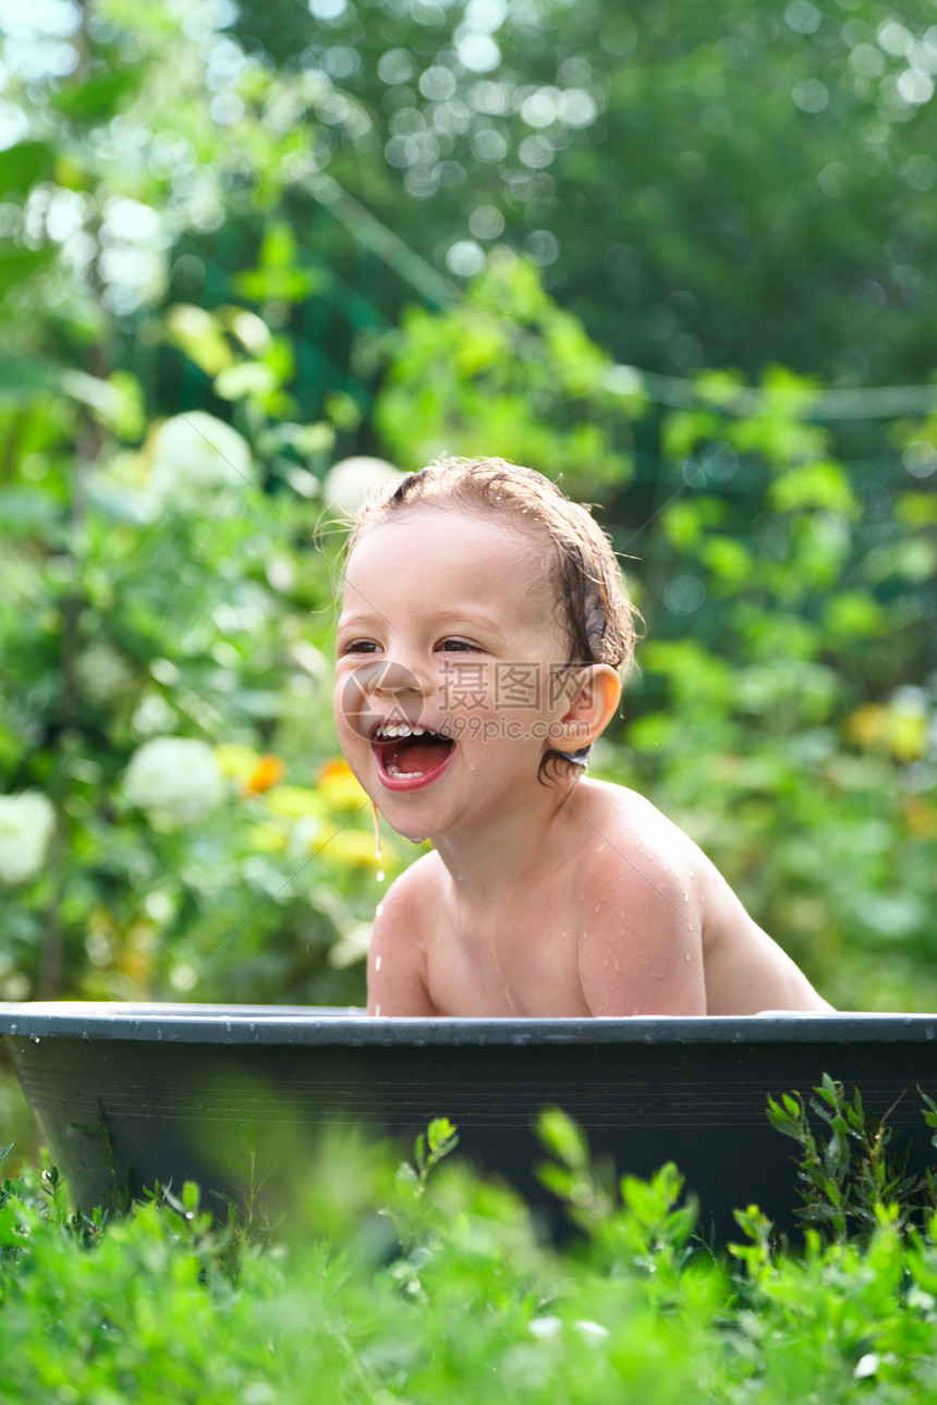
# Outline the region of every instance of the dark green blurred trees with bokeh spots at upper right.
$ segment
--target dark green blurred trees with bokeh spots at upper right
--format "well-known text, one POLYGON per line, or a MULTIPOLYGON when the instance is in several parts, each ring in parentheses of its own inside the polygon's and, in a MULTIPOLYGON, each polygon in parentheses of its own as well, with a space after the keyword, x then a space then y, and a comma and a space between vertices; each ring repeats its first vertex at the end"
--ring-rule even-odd
POLYGON ((329 173, 452 278, 506 244, 617 360, 677 375, 930 375, 923 0, 239 10, 251 51, 330 79, 329 173))

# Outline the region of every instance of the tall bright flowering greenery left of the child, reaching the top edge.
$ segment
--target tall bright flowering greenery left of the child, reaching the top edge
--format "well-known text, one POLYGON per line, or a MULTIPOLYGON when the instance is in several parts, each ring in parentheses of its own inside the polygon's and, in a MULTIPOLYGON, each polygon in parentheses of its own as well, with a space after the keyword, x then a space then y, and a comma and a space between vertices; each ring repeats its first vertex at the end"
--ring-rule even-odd
POLYGON ((319 540, 351 422, 303 416, 280 315, 317 280, 277 214, 301 84, 205 4, 44 24, 4 30, 0 995, 361 1000, 378 864, 319 540), (194 305, 184 243, 229 215, 243 285, 194 305))

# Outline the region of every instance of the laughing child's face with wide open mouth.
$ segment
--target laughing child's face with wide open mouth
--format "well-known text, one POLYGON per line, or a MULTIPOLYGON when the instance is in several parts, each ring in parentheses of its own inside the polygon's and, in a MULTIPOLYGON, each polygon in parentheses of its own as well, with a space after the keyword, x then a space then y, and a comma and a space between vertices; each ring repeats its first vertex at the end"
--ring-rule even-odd
POLYGON ((544 752, 569 747, 569 736, 549 735, 566 711, 569 643, 546 549, 535 530, 416 504, 351 552, 339 740, 410 839, 503 816, 539 785, 544 752))

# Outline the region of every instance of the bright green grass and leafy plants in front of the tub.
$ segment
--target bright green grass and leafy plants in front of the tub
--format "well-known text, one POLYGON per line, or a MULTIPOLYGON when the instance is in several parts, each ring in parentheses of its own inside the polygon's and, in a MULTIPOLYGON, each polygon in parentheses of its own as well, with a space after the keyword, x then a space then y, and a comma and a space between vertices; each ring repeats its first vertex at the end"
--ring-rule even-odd
MULTIPOLYGON (((895 1186, 863 1169, 874 1135, 848 1132, 850 1104, 830 1089, 836 1106, 818 1092, 829 1137, 801 1139, 802 1166, 809 1182, 840 1117, 856 1176, 844 1190, 837 1170, 830 1184, 868 1214, 854 1215, 858 1232, 815 1214, 797 1252, 749 1207, 739 1242, 714 1256, 673 1166, 605 1183, 559 1113, 541 1135, 546 1177, 577 1225, 562 1246, 539 1242, 511 1191, 450 1155, 444 1121, 403 1165, 351 1131, 332 1137, 306 1168, 302 1213, 280 1225, 214 1221, 194 1186, 122 1220, 83 1220, 53 1169, 25 1170, 0 1189, 0 1401, 930 1398, 933 1210, 912 1208, 900 1186, 881 1198, 895 1186)), ((798 1107, 787 1113, 795 1135, 798 1107)), ((815 1177, 808 1215, 825 1194, 815 1177)))

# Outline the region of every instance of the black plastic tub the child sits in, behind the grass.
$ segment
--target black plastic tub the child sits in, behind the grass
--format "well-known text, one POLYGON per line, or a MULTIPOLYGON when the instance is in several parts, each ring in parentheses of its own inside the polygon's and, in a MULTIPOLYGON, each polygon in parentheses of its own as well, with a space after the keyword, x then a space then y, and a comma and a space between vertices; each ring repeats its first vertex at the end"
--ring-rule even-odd
POLYGON ((618 1173, 674 1161, 701 1229, 738 1234, 756 1203, 781 1228, 799 1204, 794 1142, 768 1094, 825 1073, 888 1113, 910 1168, 937 1161, 919 1089, 937 1094, 937 1016, 427 1020, 361 1010, 195 1005, 0 1005, 0 1035, 79 1205, 198 1180, 243 1201, 302 1165, 323 1127, 412 1138, 433 1117, 459 1152, 548 1197, 534 1123, 563 1107, 618 1173))

